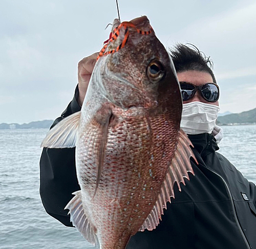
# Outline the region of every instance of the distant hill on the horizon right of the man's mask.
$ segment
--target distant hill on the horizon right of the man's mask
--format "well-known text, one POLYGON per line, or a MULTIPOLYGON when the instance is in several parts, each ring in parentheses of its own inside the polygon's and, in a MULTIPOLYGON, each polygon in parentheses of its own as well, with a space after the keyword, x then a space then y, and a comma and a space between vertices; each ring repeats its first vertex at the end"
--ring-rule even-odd
POLYGON ((240 114, 229 114, 218 117, 218 125, 252 124, 256 123, 256 108, 241 112, 240 114))

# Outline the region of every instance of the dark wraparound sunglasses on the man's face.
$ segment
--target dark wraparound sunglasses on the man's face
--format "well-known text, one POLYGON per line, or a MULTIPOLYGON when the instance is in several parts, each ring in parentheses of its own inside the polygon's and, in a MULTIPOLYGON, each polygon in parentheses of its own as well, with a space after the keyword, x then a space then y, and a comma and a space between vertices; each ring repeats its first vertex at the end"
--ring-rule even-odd
POLYGON ((220 89, 216 83, 205 83, 197 86, 189 82, 180 81, 180 88, 183 101, 192 99, 197 90, 200 91, 201 96, 208 102, 215 102, 220 97, 220 89))

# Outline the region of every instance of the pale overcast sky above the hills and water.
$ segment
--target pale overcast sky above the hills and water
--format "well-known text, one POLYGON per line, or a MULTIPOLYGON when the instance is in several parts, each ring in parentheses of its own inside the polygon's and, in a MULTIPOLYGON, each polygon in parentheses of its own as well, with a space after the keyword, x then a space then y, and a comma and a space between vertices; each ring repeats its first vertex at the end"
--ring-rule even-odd
MULTIPOLYGON (((256 107, 254 0, 119 0, 121 21, 141 15, 166 49, 193 43, 214 61, 220 112, 256 107)), ((56 119, 73 98, 77 63, 99 51, 115 0, 0 0, 0 123, 56 119)))

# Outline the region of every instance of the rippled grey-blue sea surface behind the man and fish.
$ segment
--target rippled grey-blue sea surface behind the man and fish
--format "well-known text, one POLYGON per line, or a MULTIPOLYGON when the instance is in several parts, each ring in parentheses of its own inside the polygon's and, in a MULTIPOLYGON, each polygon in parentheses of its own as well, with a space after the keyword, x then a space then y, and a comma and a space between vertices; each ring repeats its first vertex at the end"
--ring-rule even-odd
MULTIPOLYGON (((219 152, 256 183, 256 125, 222 128, 219 152)), ((42 207, 39 158, 47 131, 0 130, 0 248, 95 248, 42 207)))

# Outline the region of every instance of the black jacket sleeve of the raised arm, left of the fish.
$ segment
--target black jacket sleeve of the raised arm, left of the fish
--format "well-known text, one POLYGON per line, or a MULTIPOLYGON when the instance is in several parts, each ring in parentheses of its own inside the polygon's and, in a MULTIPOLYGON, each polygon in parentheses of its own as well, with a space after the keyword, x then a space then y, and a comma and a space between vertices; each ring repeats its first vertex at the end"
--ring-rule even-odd
MULTIPOLYGON (((81 109, 77 97, 78 86, 73 100, 61 117, 54 121, 51 128, 81 109)), ((40 196, 46 212, 66 226, 73 227, 68 210, 64 208, 73 197, 72 193, 79 189, 75 168, 75 148, 44 148, 40 158, 40 196)))

